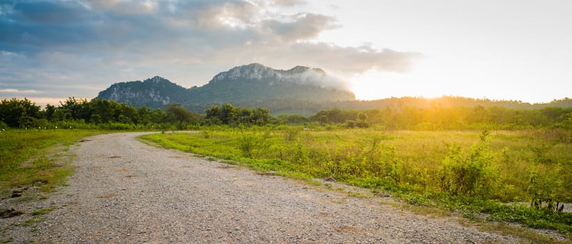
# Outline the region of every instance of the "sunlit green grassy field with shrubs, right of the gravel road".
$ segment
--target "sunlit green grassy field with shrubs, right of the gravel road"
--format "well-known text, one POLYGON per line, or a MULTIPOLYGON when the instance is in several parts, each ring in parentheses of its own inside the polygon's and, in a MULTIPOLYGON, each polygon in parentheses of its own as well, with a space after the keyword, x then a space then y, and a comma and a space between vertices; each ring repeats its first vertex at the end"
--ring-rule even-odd
POLYGON ((288 126, 142 137, 294 178, 326 178, 392 192, 479 220, 572 232, 569 130, 308 130, 288 126), (505 204, 518 203, 523 204, 505 204), (537 206, 530 207, 531 203, 537 206))

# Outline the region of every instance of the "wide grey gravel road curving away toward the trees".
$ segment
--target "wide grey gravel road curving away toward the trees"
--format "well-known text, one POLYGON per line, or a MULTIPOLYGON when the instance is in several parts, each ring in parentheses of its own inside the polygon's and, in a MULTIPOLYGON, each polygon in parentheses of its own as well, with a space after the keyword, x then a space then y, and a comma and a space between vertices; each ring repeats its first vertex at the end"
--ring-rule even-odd
MULTIPOLYGON (((56 206, 15 243, 518 243, 340 190, 194 158, 137 141, 89 137, 56 206), (31 233, 31 234, 30 234, 31 233)), ((391 201, 384 198, 384 201, 391 201)), ((33 206, 38 207, 38 206, 33 206)), ((19 216, 18 218, 23 218, 19 216)), ((17 220, 13 220, 17 221, 17 220)), ((21 221, 21 220, 20 220, 21 221)), ((6 224, 6 222, 0 222, 6 224)))

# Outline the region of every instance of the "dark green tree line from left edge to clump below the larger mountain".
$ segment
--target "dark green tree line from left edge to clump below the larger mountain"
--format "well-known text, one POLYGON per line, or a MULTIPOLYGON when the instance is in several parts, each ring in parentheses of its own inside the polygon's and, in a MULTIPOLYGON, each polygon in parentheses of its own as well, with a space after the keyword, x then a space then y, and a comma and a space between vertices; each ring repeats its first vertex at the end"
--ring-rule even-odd
POLYGON ((213 105, 205 114, 189 112, 180 105, 164 109, 135 108, 112 100, 68 98, 59 106, 43 109, 27 98, 0 101, 0 128, 167 128, 186 129, 195 125, 266 125, 278 123, 269 109, 213 105), (134 127, 133 125, 137 125, 134 127))

